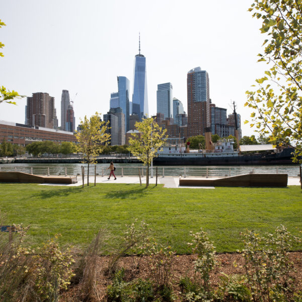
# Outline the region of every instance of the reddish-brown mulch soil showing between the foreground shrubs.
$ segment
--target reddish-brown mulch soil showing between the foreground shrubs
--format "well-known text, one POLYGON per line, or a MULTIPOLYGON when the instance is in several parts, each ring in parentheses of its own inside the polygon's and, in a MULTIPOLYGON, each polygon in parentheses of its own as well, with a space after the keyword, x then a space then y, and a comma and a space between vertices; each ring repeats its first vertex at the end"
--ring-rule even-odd
MULTIPOLYGON (((219 276, 221 273, 225 274, 244 274, 244 259, 238 253, 221 253, 216 256, 218 265, 211 273, 211 282, 215 286, 218 284, 219 276)), ((131 281, 136 278, 148 278, 146 261, 147 258, 142 258, 137 269, 135 263, 137 262, 136 256, 122 257, 118 260, 117 269, 123 268, 125 271, 125 281, 131 281)), ((291 277, 294 278, 294 287, 296 290, 302 289, 302 252, 289 253, 290 261, 294 265, 294 270, 291 272, 291 277)), ((109 257, 100 257, 98 260, 98 276, 97 276, 97 289, 101 300, 106 300, 106 288, 111 284, 112 280, 108 277, 108 263, 111 259, 109 257)), ((172 271, 173 271, 173 289, 176 295, 176 301, 180 301, 180 287, 179 280, 182 277, 188 276, 191 278, 198 278, 194 274, 194 260, 195 255, 177 255, 174 256, 172 271)), ((74 295, 77 295, 79 285, 70 288, 68 292, 62 295, 61 301, 74 300, 74 295)))

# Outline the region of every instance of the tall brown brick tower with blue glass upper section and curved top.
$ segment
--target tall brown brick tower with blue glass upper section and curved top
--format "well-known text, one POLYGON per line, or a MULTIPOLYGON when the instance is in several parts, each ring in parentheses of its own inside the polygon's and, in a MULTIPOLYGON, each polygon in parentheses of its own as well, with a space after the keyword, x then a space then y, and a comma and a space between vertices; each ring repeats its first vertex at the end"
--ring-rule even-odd
POLYGON ((188 136, 204 135, 210 127, 209 75, 200 67, 187 74, 188 136))

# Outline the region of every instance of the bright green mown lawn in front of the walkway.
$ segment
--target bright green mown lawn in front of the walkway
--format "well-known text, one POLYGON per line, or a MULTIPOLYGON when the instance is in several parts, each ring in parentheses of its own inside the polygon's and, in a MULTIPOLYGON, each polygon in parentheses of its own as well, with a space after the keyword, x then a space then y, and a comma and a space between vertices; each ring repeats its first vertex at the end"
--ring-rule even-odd
MULTIPOLYGON (((87 245, 101 228, 110 243, 121 241, 125 224, 135 218, 150 224, 155 238, 177 253, 189 252, 189 232, 208 232, 218 252, 242 248, 245 229, 272 232, 285 225, 302 230, 302 191, 288 188, 168 189, 161 185, 98 184, 53 187, 0 184, 5 223, 30 224, 27 241, 36 245, 60 233, 62 243, 87 245)), ((297 246, 296 249, 302 247, 297 246)))

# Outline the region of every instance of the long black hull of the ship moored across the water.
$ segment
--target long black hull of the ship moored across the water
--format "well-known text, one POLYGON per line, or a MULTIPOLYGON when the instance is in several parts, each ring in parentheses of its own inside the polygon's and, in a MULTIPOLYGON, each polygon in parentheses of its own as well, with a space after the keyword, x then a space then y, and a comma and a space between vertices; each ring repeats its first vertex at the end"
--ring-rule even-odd
POLYGON ((240 155, 240 156, 219 156, 203 157, 203 154, 196 154, 195 157, 186 154, 160 155, 153 160, 156 165, 196 165, 196 166, 229 166, 229 165, 290 165, 292 163, 292 148, 283 149, 280 153, 240 155))

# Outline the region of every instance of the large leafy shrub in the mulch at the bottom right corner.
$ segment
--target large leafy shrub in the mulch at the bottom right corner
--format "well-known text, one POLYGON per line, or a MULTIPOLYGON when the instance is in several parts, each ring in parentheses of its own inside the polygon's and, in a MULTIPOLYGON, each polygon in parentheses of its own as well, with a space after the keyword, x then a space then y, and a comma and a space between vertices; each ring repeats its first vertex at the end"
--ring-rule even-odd
POLYGON ((247 231, 242 237, 247 286, 253 299, 264 302, 286 300, 293 269, 288 251, 293 243, 301 240, 292 236, 283 225, 278 226, 274 235, 261 237, 247 231))

